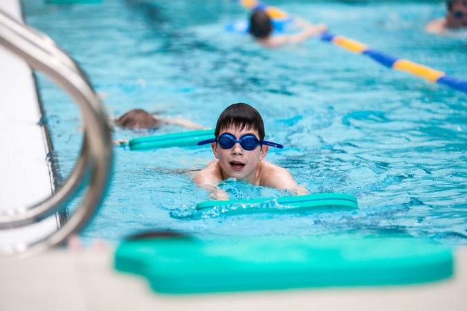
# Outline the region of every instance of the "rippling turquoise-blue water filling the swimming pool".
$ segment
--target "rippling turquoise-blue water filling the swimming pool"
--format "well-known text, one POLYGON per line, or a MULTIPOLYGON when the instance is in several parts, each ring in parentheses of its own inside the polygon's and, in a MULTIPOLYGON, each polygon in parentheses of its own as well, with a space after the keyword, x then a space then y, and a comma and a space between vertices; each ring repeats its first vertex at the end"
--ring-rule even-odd
MULTIPOLYGON (((270 3, 375 50, 467 79, 466 39, 423 32, 428 21, 443 16, 442 3, 270 3)), ((213 159, 209 147, 114 147, 108 196, 83 238, 120 241, 173 229, 199 236, 391 234, 467 244, 465 93, 317 38, 262 48, 223 30, 248 15, 223 0, 23 5, 26 21, 67 50, 107 96, 109 114, 143 108, 214 126, 227 106, 247 102, 262 113, 266 139, 285 146, 270 149, 266 160, 289 169, 312 193, 352 194, 360 205, 358 211, 315 214, 199 214, 194 207, 208 193, 192 176, 213 159)), ((82 140, 80 111, 42 75, 39 86, 62 175, 68 176, 82 140)), ((116 129, 113 138, 175 131, 184 129, 116 129)), ((221 187, 231 198, 283 195, 232 180, 221 187)))

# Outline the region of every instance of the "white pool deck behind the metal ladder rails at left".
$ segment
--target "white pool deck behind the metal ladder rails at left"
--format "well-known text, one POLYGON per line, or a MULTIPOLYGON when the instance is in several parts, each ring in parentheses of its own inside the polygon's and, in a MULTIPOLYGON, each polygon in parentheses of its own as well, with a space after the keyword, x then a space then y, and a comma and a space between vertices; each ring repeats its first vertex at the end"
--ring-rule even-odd
MULTIPOLYGON (((19 0, 0 0, 0 10, 22 21, 19 0)), ((0 211, 28 207, 51 196, 48 146, 33 72, 0 46, 0 211)), ((0 231, 0 246, 31 243, 57 231, 51 216, 20 229, 0 231)))

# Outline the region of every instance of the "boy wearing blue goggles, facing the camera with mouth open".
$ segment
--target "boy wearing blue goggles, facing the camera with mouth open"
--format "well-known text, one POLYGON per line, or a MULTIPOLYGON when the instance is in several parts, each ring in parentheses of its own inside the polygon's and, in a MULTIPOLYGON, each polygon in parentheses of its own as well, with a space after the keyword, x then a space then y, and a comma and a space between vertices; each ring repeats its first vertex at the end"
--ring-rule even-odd
POLYGON ((216 160, 194 176, 196 184, 208 189, 214 200, 228 200, 226 191, 217 188, 219 182, 228 178, 293 194, 309 194, 297 185, 289 171, 263 160, 269 146, 282 146, 264 140, 262 117, 252 106, 244 103, 228 106, 217 120, 214 135, 216 138, 199 144, 211 143, 216 160))

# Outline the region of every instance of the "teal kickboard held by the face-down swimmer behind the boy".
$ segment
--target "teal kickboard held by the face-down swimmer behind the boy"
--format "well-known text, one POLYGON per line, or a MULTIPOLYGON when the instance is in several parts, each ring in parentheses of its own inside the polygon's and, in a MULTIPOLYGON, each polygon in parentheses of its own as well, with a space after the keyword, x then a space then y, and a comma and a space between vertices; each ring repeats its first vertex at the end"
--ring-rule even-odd
POLYGON ((208 140, 210 138, 214 138, 214 129, 134 138, 129 140, 128 145, 130 150, 189 146, 197 147, 196 144, 198 142, 201 142, 201 140, 208 140))

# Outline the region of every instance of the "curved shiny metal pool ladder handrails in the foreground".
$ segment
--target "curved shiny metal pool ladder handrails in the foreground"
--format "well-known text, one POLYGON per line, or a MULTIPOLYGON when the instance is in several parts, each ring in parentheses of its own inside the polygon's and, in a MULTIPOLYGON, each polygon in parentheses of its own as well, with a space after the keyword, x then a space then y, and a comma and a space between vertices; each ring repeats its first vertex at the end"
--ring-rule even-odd
POLYGON ((80 106, 84 125, 80 156, 64 184, 55 189, 50 198, 33 206, 0 212, 0 229, 30 225, 66 209, 68 202, 87 185, 80 205, 56 232, 35 243, 0 246, 0 254, 29 256, 62 244, 68 236, 82 229, 98 209, 109 185, 111 136, 107 118, 91 83, 76 62, 50 37, 15 21, 0 10, 0 44, 67 91, 80 106))

